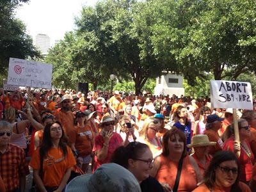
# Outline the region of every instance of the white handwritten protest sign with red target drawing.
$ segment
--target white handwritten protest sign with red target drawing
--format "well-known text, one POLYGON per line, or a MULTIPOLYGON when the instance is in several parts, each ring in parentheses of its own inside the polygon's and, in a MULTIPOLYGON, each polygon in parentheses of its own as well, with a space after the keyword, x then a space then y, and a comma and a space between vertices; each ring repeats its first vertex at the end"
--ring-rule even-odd
POLYGON ((52 65, 10 58, 7 84, 51 88, 52 65))

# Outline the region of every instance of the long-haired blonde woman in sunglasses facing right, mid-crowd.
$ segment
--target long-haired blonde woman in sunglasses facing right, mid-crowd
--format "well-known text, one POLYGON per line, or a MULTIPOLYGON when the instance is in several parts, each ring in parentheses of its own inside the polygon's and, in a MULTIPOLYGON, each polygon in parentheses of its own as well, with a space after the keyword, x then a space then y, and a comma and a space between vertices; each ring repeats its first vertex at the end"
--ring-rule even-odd
POLYGON ((141 143, 148 145, 153 154, 153 157, 160 155, 162 152, 161 142, 156 135, 160 126, 161 124, 156 118, 147 118, 142 126, 140 131, 140 138, 138 139, 138 141, 141 143))

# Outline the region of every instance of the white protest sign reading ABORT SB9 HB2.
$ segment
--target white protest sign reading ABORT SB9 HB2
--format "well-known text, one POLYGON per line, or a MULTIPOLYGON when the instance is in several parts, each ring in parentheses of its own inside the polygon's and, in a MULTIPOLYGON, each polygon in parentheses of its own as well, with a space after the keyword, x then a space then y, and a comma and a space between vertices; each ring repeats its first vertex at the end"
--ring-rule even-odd
POLYGON ((253 109, 248 82, 212 80, 210 88, 212 108, 253 109))

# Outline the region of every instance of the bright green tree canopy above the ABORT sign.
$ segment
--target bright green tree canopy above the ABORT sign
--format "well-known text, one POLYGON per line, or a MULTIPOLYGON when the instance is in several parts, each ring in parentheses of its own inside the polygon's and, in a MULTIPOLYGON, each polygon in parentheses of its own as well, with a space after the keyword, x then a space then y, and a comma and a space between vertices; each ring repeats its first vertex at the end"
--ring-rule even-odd
POLYGON ((174 54, 191 82, 205 71, 212 72, 214 79, 236 79, 255 68, 255 1, 151 2, 158 10, 152 10, 152 17, 158 17, 152 27, 154 51, 166 53, 162 59, 174 54), (223 74, 226 68, 232 70, 223 74))

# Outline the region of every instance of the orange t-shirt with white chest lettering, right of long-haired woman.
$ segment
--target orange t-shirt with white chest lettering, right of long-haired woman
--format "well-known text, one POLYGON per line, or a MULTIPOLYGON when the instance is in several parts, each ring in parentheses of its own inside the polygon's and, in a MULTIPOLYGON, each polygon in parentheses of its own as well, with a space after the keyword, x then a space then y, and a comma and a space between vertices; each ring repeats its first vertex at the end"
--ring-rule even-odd
POLYGON ((90 125, 85 125, 84 127, 76 126, 75 129, 70 132, 69 141, 70 143, 75 143, 79 157, 86 157, 92 153, 94 137, 95 135, 90 125), (88 138, 89 135, 92 135, 92 140, 88 138))

